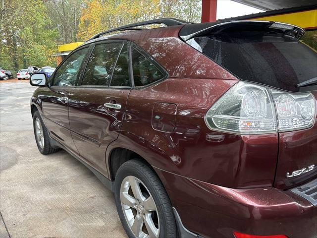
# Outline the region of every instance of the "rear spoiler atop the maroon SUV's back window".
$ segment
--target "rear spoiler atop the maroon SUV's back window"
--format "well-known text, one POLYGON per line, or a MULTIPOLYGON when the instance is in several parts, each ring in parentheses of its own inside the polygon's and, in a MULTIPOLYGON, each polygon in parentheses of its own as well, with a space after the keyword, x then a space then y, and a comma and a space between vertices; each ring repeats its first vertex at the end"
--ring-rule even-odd
POLYGON ((227 22, 209 22, 209 23, 194 23, 185 25, 179 32, 179 36, 184 41, 193 37, 202 35, 220 34, 228 31, 259 31, 259 30, 272 30, 280 32, 300 39, 305 30, 286 23, 274 21, 227 21, 227 22))

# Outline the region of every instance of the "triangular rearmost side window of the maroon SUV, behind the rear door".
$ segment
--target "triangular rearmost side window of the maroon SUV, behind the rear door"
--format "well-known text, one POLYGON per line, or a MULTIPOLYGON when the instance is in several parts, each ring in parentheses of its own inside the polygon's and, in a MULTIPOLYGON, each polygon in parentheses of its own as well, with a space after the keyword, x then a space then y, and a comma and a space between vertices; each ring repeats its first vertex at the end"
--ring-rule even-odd
POLYGON ((158 68, 134 48, 132 48, 132 68, 136 87, 144 86, 163 78, 163 74, 158 68))

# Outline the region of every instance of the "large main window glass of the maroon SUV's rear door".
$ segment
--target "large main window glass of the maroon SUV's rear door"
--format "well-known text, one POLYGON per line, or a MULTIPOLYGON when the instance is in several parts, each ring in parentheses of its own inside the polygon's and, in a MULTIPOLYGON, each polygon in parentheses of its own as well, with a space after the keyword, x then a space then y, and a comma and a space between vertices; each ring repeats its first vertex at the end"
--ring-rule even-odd
POLYGON ((118 43, 96 45, 88 61, 82 85, 108 86, 121 47, 122 44, 118 43))

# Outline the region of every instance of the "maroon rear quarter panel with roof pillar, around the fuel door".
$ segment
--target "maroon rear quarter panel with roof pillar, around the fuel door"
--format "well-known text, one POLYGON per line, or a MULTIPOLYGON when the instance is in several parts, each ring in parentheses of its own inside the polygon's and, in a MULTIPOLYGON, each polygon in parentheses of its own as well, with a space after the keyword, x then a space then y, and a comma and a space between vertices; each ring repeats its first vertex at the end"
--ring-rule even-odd
POLYGON ((278 135, 241 136, 207 127, 206 112, 238 80, 181 41, 181 27, 122 35, 157 60, 169 78, 131 90, 125 121, 118 139, 107 149, 107 160, 113 148, 123 147, 138 153, 154 167, 184 177, 228 187, 272 185, 278 135), (153 129, 151 118, 156 103, 177 106, 172 132, 153 129))

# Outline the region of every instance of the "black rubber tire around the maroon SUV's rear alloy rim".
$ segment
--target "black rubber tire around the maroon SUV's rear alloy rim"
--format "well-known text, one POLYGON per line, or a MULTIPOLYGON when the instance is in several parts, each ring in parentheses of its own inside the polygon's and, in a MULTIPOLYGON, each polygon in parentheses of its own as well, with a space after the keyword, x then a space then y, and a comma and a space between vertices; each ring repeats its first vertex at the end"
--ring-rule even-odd
POLYGON ((128 176, 134 176, 139 179, 152 195, 159 216, 159 238, 176 238, 175 217, 166 190, 153 169, 139 159, 125 162, 118 169, 114 181, 115 203, 122 226, 128 237, 136 238, 125 219, 120 199, 121 183, 128 176))

